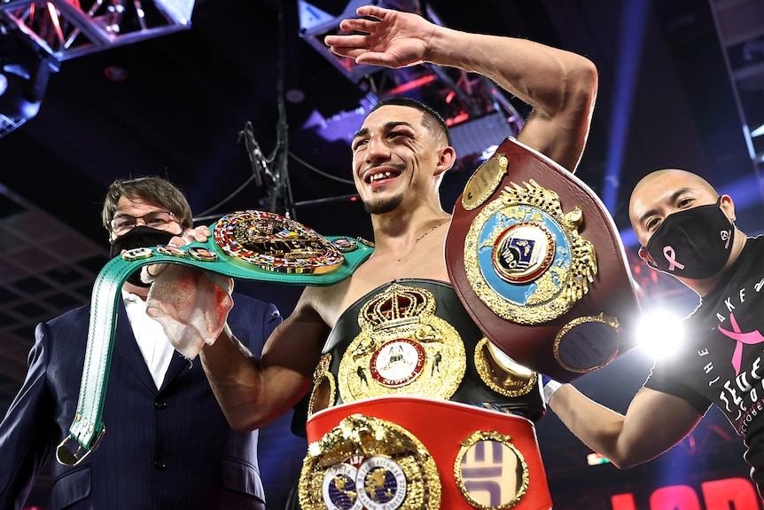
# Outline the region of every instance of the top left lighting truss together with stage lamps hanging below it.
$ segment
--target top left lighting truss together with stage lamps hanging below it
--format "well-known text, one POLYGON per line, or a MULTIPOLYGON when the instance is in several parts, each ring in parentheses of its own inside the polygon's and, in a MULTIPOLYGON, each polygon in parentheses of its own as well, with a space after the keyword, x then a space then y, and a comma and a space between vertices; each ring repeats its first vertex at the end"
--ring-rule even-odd
POLYGON ((37 114, 60 63, 191 27, 195 0, 0 0, 0 137, 37 114))

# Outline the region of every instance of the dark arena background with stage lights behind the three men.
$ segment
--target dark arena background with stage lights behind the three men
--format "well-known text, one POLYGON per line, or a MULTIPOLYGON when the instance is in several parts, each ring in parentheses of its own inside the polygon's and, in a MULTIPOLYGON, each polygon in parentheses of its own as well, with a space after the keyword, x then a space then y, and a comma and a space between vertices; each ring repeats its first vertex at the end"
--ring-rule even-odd
MULTIPOLYGON (((168 177, 188 195, 197 224, 264 209, 326 235, 370 239, 350 181, 347 139, 375 100, 420 98, 453 125, 460 160, 442 184, 447 210, 481 157, 515 135, 528 114, 517 99, 453 69, 390 71, 332 57, 322 36, 357 2, 143 0, 144 16, 136 12, 141 2, 109 0, 83 13, 90 4, 0 2, 0 73, 7 80, 0 92, 0 412, 24 380, 35 325, 90 299, 108 257, 99 213, 114 179, 168 177), (51 28, 53 17, 63 20, 63 34, 51 28), (112 31, 118 35, 103 36, 105 27, 118 27, 112 31)), ((682 316, 698 298, 635 255, 627 207, 640 177, 668 167, 695 171, 732 196, 741 230, 761 233, 760 0, 378 4, 416 10, 448 27, 525 37, 595 62, 599 93, 577 175, 623 232, 645 312, 682 316)), ((237 288, 275 302, 284 315, 300 293, 253 282, 237 288)), ((650 354, 634 349, 575 384, 625 412, 651 365, 650 354)), ((274 509, 283 507, 305 448, 288 432, 288 419, 261 439, 274 509)), ((625 471, 592 455, 553 412, 537 435, 556 510, 762 507, 742 440, 715 409, 667 454, 625 471)), ((50 484, 43 471, 29 507, 45 508, 50 484)))

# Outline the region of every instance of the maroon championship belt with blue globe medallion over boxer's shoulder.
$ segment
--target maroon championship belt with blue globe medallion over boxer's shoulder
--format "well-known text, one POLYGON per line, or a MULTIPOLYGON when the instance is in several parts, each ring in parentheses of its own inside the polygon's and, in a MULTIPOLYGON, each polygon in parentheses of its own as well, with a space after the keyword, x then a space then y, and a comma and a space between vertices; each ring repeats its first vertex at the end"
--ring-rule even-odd
POLYGON ((446 264, 487 338, 557 381, 634 347, 639 305, 612 217, 589 186, 511 138, 456 200, 446 264))

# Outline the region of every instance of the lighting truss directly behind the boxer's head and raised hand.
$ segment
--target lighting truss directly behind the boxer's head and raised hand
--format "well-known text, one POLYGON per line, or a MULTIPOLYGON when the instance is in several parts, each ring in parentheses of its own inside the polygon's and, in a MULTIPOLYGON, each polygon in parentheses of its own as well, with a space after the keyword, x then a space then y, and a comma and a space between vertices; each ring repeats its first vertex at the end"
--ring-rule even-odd
MULTIPOLYGON (((487 78, 454 68, 422 64, 388 69, 356 64, 353 59, 338 57, 324 44, 326 35, 341 33, 339 21, 354 18, 355 10, 368 0, 350 0, 341 12, 325 12, 311 0, 298 0, 300 36, 334 67, 365 93, 359 107, 339 112, 330 119, 313 119, 312 127, 328 140, 344 139, 348 144, 363 116, 379 100, 393 96, 416 98, 433 106, 451 126, 453 145, 469 166, 472 158, 485 153, 488 144, 501 143, 504 137, 515 137, 525 118, 510 98, 487 78)), ((324 2, 326 4, 326 2, 324 2)), ((378 0, 380 7, 416 12, 442 25, 439 16, 419 0, 378 0)))

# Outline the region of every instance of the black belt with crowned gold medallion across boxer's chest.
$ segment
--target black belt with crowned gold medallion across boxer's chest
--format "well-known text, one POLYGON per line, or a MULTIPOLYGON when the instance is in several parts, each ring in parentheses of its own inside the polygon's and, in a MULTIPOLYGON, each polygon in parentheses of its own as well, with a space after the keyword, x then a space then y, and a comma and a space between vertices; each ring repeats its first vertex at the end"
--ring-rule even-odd
POLYGON ((475 326, 448 284, 380 286, 337 321, 314 372, 307 414, 378 396, 425 396, 544 412, 536 373, 514 364, 475 326))

